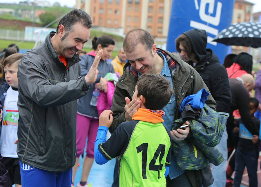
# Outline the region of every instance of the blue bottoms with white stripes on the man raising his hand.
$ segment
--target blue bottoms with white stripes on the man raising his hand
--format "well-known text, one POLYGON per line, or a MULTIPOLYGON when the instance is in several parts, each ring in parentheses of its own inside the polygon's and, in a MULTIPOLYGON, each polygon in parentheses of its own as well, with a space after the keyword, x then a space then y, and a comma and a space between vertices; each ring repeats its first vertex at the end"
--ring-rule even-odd
POLYGON ((22 187, 71 187, 73 169, 51 173, 19 161, 22 187))

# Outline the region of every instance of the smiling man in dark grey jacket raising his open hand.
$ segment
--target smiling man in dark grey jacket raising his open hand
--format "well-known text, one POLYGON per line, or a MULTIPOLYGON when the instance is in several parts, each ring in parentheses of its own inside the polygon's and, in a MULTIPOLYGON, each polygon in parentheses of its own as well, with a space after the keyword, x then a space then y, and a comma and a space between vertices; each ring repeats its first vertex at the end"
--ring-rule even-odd
POLYGON ((90 16, 73 9, 18 67, 18 145, 23 186, 71 186, 76 159, 77 99, 94 83, 102 50, 85 77, 79 57, 90 37, 90 16))

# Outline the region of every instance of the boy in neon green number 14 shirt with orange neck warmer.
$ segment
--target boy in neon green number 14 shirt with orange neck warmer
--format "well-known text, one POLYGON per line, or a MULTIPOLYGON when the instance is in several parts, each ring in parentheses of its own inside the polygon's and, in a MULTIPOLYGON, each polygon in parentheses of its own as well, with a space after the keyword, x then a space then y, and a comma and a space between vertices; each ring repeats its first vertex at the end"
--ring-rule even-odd
POLYGON ((113 121, 112 111, 105 110, 99 117, 95 141, 95 161, 105 164, 121 156, 119 186, 166 186, 165 177, 171 160, 171 139, 163 126, 162 109, 173 90, 161 75, 140 75, 132 99, 140 108, 132 121, 121 123, 106 141, 113 121), (164 176, 165 175, 165 176, 164 176))

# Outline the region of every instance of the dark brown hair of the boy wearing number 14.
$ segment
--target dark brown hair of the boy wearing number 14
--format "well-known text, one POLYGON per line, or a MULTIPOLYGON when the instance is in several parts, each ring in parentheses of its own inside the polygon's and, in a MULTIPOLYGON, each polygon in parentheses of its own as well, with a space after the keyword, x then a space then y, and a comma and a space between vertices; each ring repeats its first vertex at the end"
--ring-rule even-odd
POLYGON ((137 96, 142 95, 145 98, 144 106, 150 110, 161 110, 173 94, 169 81, 155 73, 139 76, 137 90, 137 96))

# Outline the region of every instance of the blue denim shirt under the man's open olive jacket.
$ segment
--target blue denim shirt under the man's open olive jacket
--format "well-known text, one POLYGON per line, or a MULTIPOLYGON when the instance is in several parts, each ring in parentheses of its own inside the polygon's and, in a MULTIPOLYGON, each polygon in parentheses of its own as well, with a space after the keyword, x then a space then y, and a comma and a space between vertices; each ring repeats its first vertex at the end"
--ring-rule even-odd
MULTIPOLYGON (((168 63, 167 63, 166 57, 161 52, 157 51, 157 54, 160 55, 160 57, 162 57, 162 59, 164 60, 164 66, 160 72, 160 75, 162 75, 169 81, 171 88, 173 89, 171 72, 168 68, 168 63)), ((140 75, 141 74, 138 72, 138 76, 140 76, 140 75)), ((171 99, 169 100, 168 104, 166 106, 164 106, 162 109, 165 112, 165 116, 162 118, 162 119, 164 119, 162 124, 168 129, 168 131, 171 130, 171 126, 174 121, 175 108, 176 108, 176 99, 175 99, 175 95, 173 94, 171 96, 171 99)), ((173 152, 171 152, 171 154, 173 154, 173 152)), ((172 155, 171 164, 170 164, 169 173, 168 173, 170 179, 174 179, 184 172, 185 172, 184 170, 177 170, 176 159, 172 155)))

